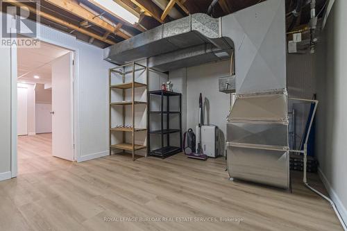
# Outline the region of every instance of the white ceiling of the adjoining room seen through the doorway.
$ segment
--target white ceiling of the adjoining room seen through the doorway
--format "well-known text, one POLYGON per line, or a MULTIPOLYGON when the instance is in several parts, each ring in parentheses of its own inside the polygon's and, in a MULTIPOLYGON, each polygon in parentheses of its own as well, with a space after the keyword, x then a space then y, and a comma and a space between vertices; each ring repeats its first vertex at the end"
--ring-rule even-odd
POLYGON ((44 42, 40 48, 18 48, 18 78, 27 83, 51 83, 51 62, 68 53, 69 50, 44 42), (34 76, 40 76, 35 79, 34 76))

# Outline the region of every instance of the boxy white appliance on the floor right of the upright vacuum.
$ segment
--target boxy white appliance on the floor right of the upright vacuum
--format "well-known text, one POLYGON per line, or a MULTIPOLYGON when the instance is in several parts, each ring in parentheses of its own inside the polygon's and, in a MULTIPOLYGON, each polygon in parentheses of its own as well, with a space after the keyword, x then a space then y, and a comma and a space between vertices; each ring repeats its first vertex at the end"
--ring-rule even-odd
MULTIPOLYGON (((198 148, 200 135, 198 129, 198 126, 196 126, 196 148, 198 148)), ((208 155, 208 157, 217 157, 219 155, 217 126, 201 126, 201 147, 203 148, 203 154, 208 155)))

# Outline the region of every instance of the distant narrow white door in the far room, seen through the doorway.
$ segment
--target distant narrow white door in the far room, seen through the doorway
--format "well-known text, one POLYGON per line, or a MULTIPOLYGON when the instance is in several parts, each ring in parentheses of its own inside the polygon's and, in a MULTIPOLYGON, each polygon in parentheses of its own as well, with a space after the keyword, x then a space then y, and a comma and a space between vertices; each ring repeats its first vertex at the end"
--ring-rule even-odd
POLYGON ((17 135, 28 135, 28 89, 17 87, 17 135))

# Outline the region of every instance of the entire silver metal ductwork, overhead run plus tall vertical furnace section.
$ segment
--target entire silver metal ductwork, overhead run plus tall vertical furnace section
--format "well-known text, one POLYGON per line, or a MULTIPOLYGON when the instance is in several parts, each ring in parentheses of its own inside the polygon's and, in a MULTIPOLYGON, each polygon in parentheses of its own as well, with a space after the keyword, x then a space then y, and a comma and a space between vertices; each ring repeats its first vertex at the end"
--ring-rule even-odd
POLYGON ((199 13, 162 24, 110 46, 104 58, 118 65, 149 58, 149 67, 170 71, 234 53, 230 177, 288 188, 285 32, 285 0, 267 0, 219 19, 199 13))

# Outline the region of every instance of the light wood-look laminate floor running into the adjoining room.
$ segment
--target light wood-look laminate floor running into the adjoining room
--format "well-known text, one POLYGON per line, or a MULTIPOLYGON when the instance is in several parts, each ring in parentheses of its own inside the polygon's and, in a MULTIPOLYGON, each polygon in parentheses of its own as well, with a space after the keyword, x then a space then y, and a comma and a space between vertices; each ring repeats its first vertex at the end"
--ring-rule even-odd
POLYGON ((18 177, 0 182, 0 230, 342 230, 298 172, 290 194, 230 182, 223 158, 68 162, 51 156, 50 134, 19 137, 18 158, 18 177))

